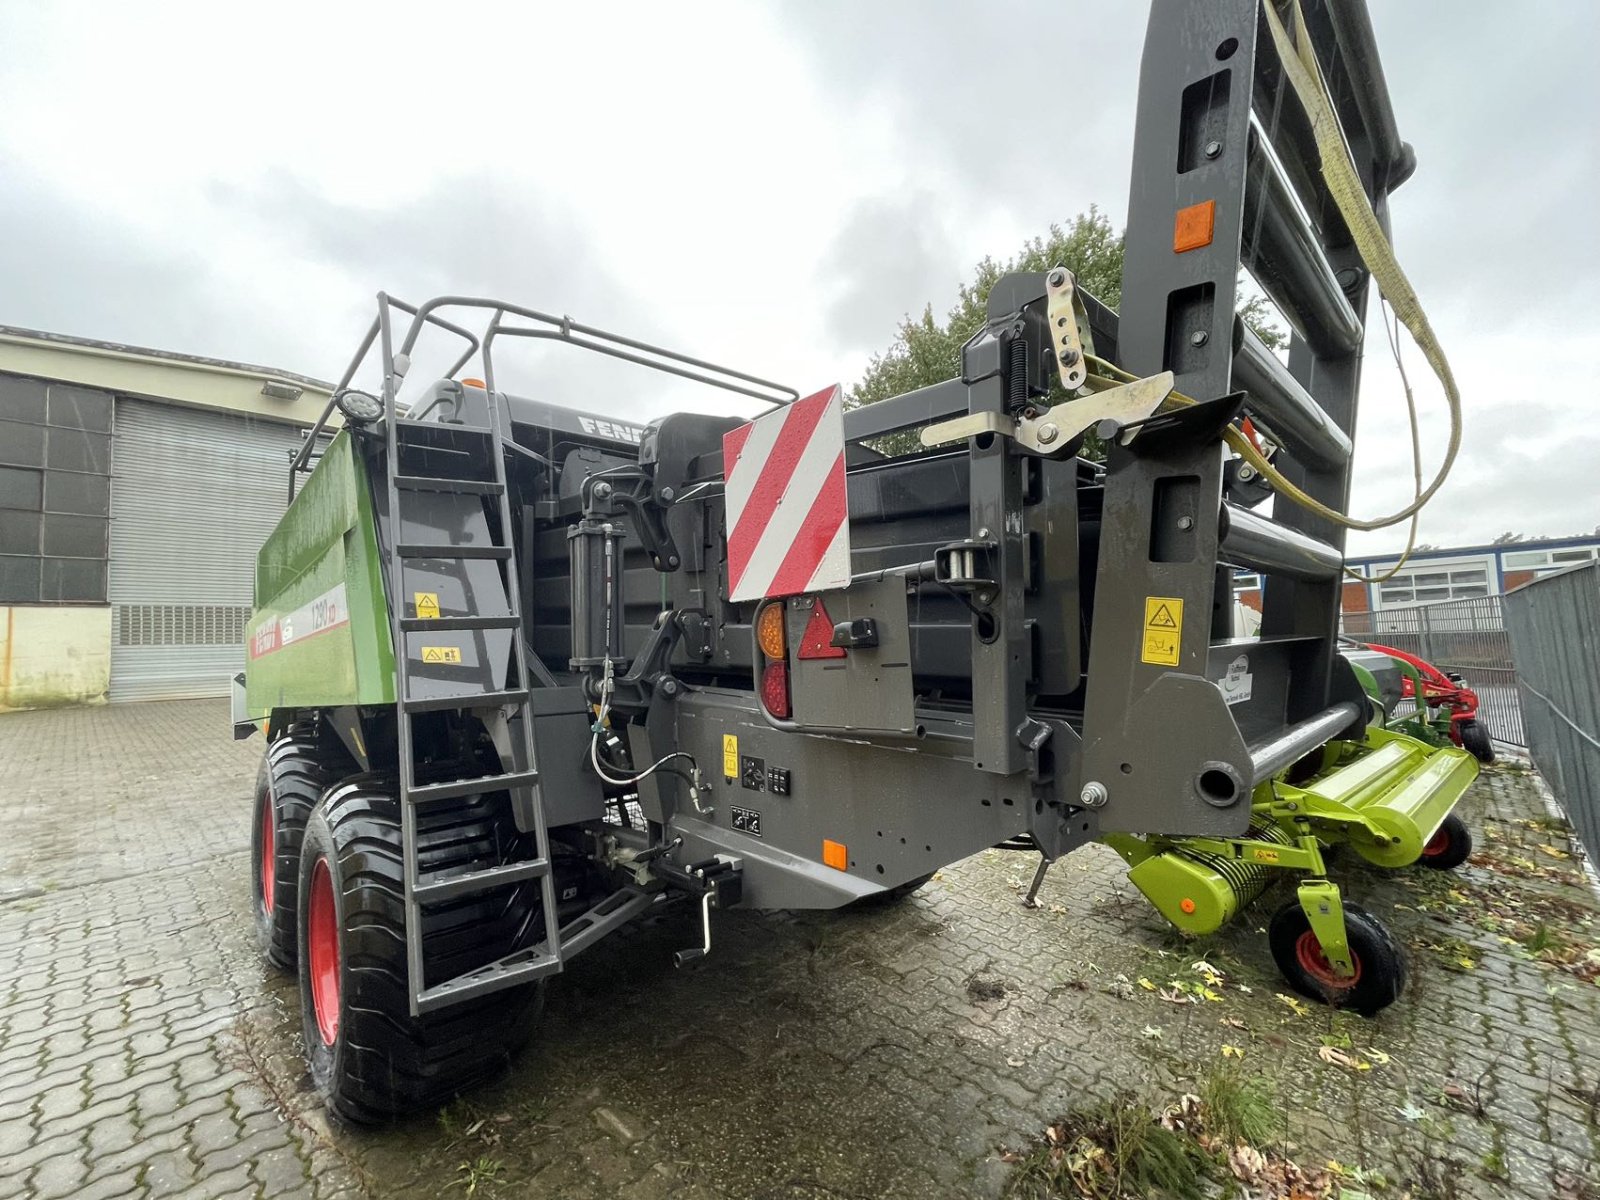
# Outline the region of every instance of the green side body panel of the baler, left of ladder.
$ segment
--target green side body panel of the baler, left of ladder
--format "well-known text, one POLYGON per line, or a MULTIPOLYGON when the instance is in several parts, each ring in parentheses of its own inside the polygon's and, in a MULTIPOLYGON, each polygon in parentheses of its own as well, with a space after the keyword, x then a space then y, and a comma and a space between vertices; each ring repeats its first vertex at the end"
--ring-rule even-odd
POLYGON ((341 432, 256 555, 245 704, 394 704, 395 662, 371 488, 341 432))

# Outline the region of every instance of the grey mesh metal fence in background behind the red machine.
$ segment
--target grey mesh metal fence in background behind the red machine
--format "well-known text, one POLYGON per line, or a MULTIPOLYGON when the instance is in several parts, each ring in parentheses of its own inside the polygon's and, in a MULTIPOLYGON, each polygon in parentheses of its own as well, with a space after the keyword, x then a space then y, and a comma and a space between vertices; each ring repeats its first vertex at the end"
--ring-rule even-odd
POLYGON ((1446 600, 1414 608, 1346 613, 1344 632, 1358 642, 1403 650, 1440 670, 1459 674, 1478 694, 1478 720, 1496 741, 1526 746, 1517 667, 1506 635, 1502 597, 1446 600))

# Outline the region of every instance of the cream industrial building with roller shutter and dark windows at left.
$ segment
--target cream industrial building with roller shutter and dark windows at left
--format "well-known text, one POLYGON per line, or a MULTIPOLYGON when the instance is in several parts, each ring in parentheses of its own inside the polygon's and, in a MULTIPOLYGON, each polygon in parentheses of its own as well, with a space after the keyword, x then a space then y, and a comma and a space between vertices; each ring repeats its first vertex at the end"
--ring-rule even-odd
POLYGON ((317 379, 0 326, 0 710, 216 696, 317 379))

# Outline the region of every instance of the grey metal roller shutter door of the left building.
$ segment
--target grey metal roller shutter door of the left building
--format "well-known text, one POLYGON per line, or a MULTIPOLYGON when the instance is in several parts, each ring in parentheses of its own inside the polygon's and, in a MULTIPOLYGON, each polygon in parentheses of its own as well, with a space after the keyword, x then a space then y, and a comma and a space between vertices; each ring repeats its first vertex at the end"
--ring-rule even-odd
POLYGON ((283 515, 294 426, 117 398, 110 698, 224 696, 256 549, 283 515))

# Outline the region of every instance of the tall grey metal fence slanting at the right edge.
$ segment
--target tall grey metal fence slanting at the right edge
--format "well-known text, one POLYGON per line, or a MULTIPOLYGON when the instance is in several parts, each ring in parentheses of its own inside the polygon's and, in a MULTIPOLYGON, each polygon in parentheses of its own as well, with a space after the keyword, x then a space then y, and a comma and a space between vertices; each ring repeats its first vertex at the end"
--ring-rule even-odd
POLYGON ((1506 595, 1528 752, 1600 859, 1600 563, 1506 595))

